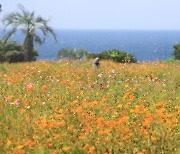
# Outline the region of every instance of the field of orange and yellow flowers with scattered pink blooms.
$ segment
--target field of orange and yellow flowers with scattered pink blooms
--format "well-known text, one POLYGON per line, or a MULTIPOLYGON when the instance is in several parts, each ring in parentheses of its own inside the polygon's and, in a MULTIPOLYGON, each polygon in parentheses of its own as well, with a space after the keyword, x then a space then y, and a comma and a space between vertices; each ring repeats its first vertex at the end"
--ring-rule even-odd
POLYGON ((0 64, 0 153, 180 153, 180 65, 0 64))

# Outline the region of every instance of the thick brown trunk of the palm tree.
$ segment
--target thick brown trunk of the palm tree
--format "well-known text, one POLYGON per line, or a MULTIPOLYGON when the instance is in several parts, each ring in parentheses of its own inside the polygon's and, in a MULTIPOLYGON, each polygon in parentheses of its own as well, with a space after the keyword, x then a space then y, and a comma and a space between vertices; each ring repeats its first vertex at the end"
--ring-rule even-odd
POLYGON ((27 34, 24 40, 24 60, 30 62, 33 60, 33 36, 27 34))

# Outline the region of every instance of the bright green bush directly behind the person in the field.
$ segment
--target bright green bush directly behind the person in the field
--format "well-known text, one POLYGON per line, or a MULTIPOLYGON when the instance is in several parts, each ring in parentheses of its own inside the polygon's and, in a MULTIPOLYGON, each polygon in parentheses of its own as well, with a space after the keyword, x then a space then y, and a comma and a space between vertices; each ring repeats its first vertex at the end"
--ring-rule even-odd
POLYGON ((100 59, 113 60, 115 62, 124 63, 124 62, 137 62, 137 59, 126 51, 120 51, 117 49, 106 50, 100 53, 90 53, 88 58, 99 57, 100 59))

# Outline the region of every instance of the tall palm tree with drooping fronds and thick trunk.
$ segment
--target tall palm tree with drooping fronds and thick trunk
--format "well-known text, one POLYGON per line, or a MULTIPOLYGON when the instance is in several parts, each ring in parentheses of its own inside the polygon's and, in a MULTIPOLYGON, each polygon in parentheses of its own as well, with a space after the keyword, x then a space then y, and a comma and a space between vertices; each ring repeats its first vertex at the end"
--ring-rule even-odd
POLYGON ((11 30, 4 36, 4 42, 6 43, 18 28, 20 28, 22 33, 25 34, 23 43, 25 61, 32 61, 34 42, 43 43, 48 33, 52 34, 55 41, 57 39, 53 29, 48 26, 48 20, 40 16, 36 17, 35 12, 27 11, 22 5, 19 5, 18 8, 20 11, 12 12, 2 19, 5 30, 11 26, 11 30), (39 32, 42 32, 42 36, 38 35, 40 34, 39 32))

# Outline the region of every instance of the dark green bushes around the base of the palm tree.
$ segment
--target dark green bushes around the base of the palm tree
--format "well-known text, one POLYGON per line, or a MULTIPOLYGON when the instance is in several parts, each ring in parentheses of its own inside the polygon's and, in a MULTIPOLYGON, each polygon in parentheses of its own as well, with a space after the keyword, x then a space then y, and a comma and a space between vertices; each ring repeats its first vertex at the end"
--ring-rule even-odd
MULTIPOLYGON (((0 40, 0 62, 23 62, 25 59, 23 46, 15 41, 3 43, 0 40)), ((35 61, 38 56, 37 50, 33 50, 32 59, 35 61)))

